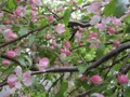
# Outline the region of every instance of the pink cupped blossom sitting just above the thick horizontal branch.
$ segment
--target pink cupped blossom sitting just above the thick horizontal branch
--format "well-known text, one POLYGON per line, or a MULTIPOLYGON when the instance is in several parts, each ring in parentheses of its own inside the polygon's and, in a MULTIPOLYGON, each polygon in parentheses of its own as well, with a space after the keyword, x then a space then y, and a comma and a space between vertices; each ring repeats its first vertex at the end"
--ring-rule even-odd
POLYGON ((49 65, 49 59, 47 57, 43 57, 39 60, 39 70, 40 71, 44 71, 44 69, 48 67, 49 65))

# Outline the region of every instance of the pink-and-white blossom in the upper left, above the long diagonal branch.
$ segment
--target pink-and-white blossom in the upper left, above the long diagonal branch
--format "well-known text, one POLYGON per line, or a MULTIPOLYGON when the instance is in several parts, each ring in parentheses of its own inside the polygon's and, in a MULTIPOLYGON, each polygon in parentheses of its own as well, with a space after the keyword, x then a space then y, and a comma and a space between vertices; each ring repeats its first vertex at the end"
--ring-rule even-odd
POLYGON ((15 13, 16 16, 24 17, 25 14, 26 14, 26 8, 25 6, 18 6, 18 8, 16 8, 14 13, 15 13))

